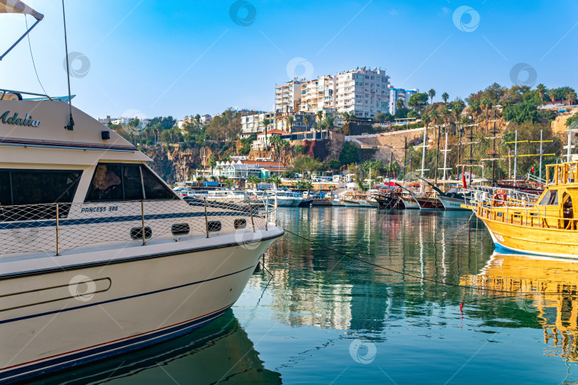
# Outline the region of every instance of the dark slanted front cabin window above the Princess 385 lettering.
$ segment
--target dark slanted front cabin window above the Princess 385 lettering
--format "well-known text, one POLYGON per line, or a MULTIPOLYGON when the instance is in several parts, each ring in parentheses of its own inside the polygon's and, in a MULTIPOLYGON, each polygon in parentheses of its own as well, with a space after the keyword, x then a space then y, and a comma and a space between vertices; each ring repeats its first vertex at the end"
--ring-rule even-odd
POLYGON ((144 165, 108 164, 96 166, 86 202, 110 200, 178 199, 144 165))

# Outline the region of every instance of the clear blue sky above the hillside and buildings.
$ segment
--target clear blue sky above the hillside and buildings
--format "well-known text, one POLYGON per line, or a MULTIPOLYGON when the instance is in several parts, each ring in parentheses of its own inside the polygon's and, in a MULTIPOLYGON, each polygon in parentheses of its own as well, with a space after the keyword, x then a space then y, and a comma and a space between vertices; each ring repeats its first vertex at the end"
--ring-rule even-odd
MULTIPOLYGON (((24 2, 45 15, 30 35, 40 80, 49 95, 65 95, 61 2, 24 2)), ((271 110, 275 83, 289 75, 357 66, 385 68, 396 87, 434 88, 434 100, 511 86, 517 63, 534 69, 534 86, 578 88, 574 0, 66 0, 66 16, 69 52, 89 61, 73 61, 73 102, 96 118, 271 110), (288 70, 293 58, 307 62, 288 70)), ((0 49, 24 29, 24 16, 1 15, 0 49)), ((28 41, 0 68, 3 88, 41 92, 28 41)))

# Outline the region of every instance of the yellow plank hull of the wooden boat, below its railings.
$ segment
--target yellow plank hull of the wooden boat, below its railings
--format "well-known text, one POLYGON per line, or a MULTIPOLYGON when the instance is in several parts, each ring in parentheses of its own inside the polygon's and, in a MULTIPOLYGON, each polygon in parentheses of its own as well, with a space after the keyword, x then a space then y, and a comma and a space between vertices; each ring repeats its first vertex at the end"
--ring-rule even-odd
POLYGON ((578 259, 578 230, 529 227, 476 215, 486 225, 496 247, 524 254, 578 259))

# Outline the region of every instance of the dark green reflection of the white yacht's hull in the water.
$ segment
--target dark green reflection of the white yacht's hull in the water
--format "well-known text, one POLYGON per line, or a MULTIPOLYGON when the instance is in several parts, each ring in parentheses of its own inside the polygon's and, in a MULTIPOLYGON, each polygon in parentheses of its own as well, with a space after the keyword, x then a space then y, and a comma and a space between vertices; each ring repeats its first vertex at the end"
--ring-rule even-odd
POLYGON ((184 337, 116 359, 69 370, 33 384, 280 384, 263 368, 253 342, 229 310, 184 337))

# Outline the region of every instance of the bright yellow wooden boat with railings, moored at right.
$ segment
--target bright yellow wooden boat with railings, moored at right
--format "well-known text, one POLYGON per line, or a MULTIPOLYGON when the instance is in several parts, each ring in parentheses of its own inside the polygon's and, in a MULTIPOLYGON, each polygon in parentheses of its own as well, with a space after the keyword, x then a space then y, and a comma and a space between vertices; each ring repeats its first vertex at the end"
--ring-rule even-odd
POLYGON ((578 162, 548 165, 546 189, 535 202, 500 191, 480 200, 475 214, 497 247, 550 257, 578 258, 578 162), (552 179, 551 179, 552 178, 552 179))

